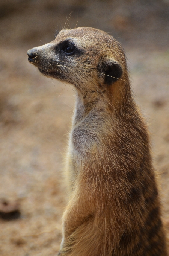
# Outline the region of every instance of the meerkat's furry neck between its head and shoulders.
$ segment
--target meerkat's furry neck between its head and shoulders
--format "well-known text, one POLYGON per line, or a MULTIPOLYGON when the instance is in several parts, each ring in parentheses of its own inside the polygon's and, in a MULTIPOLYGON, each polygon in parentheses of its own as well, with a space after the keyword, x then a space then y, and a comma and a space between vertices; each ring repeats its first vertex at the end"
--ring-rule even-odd
POLYGON ((74 125, 81 122, 93 108, 109 109, 118 116, 123 116, 135 108, 129 81, 118 81, 109 88, 98 88, 95 91, 77 89, 76 95, 74 125))

